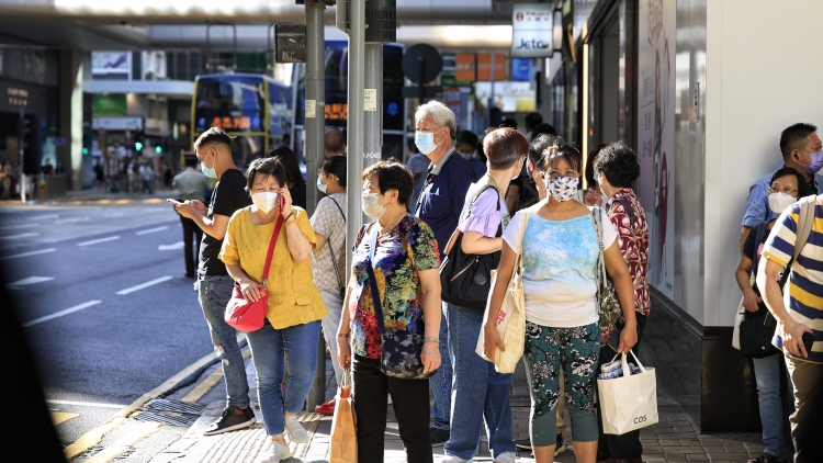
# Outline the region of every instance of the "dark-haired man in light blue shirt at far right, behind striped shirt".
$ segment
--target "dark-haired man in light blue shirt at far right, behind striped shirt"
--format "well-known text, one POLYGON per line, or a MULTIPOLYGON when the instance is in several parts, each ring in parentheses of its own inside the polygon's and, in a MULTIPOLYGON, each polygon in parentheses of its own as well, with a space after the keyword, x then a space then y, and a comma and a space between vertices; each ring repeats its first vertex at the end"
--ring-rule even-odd
MULTIPOLYGON (((808 182, 809 194, 823 194, 823 176, 818 173, 821 166, 812 161, 811 154, 818 153, 821 147, 818 127, 813 124, 798 123, 790 125, 780 134, 780 151, 783 156, 783 167, 790 167, 802 173, 808 182), (811 172, 810 172, 811 171, 811 172)), ((760 222, 770 222, 777 218, 769 207, 769 187, 771 176, 757 180, 748 189, 746 200, 746 212, 743 214, 743 229, 740 234, 740 247, 746 242, 748 234, 760 222)))

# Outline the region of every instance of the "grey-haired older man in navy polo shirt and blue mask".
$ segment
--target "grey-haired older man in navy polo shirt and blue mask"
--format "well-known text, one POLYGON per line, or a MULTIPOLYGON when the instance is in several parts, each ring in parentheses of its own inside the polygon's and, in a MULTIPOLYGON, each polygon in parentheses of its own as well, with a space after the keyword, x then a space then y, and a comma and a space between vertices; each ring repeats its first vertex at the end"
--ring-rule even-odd
MULTIPOLYGON (((439 101, 430 101, 417 106, 415 112, 415 144, 426 156, 429 166, 426 182, 415 206, 415 215, 435 230, 440 259, 449 242, 458 219, 463 211, 463 202, 469 187, 477 181, 474 169, 462 156, 453 156, 458 124, 454 113, 439 101)), ((443 304, 446 305, 446 304, 443 304)), ((431 444, 443 445, 450 436, 452 365, 449 358, 449 320, 443 310, 440 324, 441 365, 429 384, 435 395, 435 417, 431 428, 431 444)))

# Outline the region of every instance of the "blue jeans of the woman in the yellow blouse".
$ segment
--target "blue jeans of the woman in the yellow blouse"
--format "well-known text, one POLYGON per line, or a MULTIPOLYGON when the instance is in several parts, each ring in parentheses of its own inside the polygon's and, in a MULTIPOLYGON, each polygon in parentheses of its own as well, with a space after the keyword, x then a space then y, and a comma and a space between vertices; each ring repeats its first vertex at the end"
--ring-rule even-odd
POLYGON ((314 383, 319 336, 319 320, 274 329, 267 319, 262 328, 246 334, 257 370, 257 395, 260 397, 267 434, 283 433, 284 411, 297 414, 303 409, 314 383), (285 393, 281 388, 285 374, 283 353, 289 355, 285 393))

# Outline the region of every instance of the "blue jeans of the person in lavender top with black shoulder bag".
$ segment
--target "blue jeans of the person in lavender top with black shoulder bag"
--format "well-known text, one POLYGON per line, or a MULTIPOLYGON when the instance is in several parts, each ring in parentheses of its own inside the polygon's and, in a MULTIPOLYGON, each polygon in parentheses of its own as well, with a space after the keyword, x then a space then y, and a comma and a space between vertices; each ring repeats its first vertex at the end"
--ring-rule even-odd
POLYGON ((449 352, 454 369, 451 419, 455 425, 443 450, 463 460, 473 459, 485 421, 492 456, 516 452, 509 405, 511 374, 497 373, 494 363, 475 352, 483 329, 483 314, 453 305, 449 305, 448 310, 449 352))

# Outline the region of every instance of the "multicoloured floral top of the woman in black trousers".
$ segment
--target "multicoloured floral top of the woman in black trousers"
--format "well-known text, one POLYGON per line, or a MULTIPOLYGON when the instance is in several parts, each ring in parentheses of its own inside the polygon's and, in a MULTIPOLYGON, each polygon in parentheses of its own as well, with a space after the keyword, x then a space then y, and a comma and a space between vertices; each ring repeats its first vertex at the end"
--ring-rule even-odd
MULTIPOLYGON (((374 300, 369 282, 371 264, 371 227, 360 229, 352 249, 354 290, 349 298, 353 352, 369 359, 380 358, 381 332, 374 315, 374 300)), ((440 267, 435 233, 425 222, 407 214, 394 229, 377 237, 374 252, 374 278, 377 280, 383 324, 386 330, 405 329, 424 334, 420 279, 417 272, 440 267)))

